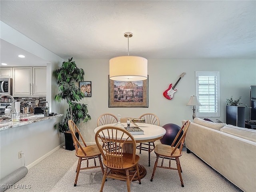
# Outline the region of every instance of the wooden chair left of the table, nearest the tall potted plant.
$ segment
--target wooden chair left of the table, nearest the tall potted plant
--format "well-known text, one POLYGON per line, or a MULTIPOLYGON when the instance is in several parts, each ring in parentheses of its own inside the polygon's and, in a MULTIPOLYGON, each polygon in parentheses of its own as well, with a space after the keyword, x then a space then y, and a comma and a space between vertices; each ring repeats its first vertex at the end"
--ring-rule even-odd
POLYGON ((72 134, 72 139, 73 139, 74 147, 76 150, 76 156, 79 158, 78 165, 76 167, 76 179, 75 179, 75 183, 74 183, 74 186, 76 186, 80 170, 100 167, 102 169, 102 173, 104 173, 104 168, 103 168, 103 164, 101 161, 101 154, 100 154, 100 150, 98 149, 98 146, 97 145, 88 145, 87 146, 82 137, 82 134, 80 133, 76 124, 72 120, 68 120, 68 127, 72 134), (83 145, 80 144, 80 142, 76 138, 75 132, 78 132, 80 139, 83 142, 83 145), (99 159, 100 165, 96 164, 96 158, 99 159), (86 167, 81 168, 81 163, 84 160, 86 160, 86 167), (94 160, 94 166, 89 166, 89 160, 94 160))

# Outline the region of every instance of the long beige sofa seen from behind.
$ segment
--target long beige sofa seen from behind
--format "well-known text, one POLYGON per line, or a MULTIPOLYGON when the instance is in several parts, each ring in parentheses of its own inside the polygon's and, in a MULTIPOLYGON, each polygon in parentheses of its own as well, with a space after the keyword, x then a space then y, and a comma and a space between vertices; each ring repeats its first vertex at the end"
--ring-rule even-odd
POLYGON ((195 118, 185 145, 187 152, 193 152, 243 191, 256 191, 256 130, 195 118))

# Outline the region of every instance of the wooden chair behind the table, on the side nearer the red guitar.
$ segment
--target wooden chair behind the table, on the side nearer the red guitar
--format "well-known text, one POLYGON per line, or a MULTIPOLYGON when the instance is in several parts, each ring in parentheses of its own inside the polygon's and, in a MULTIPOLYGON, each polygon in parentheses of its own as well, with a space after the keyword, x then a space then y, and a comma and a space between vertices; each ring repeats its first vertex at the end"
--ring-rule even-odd
MULTIPOLYGON (((146 113, 143 114, 142 116, 139 117, 139 119, 145 119, 145 123, 147 124, 153 124, 153 125, 158 125, 160 124, 159 118, 152 113, 146 113)), ((150 153, 154 150, 155 148, 155 143, 154 142, 147 142, 147 143, 140 143, 140 145, 136 146, 137 149, 144 151, 148 151, 148 166, 150 167, 150 153)))

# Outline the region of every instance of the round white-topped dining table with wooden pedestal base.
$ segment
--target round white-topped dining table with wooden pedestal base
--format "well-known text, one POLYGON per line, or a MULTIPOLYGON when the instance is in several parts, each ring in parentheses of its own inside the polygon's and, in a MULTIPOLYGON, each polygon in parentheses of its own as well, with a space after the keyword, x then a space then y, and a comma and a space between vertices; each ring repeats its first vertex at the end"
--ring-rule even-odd
MULTIPOLYGON (((96 133, 100 128, 106 127, 106 126, 114 126, 113 124, 106 124, 98 126, 94 129, 94 133, 96 133)), ((125 127, 127 127, 127 123, 122 123, 125 127)), ((152 125, 152 124, 146 124, 146 123, 136 123, 135 125, 132 125, 131 127, 138 126, 141 128, 144 132, 144 134, 140 135, 132 135, 136 141, 136 143, 143 143, 143 142, 154 142, 160 138, 162 138, 166 134, 166 130, 160 126, 152 125)), ((128 147, 125 147, 125 152, 132 153, 133 149, 130 148, 131 145, 127 144, 128 147)), ((141 164, 138 164, 139 170, 140 170, 140 178, 144 178, 146 176, 146 168, 142 166, 141 164)), ((125 173, 124 173, 125 175, 125 173)), ((134 178, 134 180, 138 180, 137 177, 134 178)))

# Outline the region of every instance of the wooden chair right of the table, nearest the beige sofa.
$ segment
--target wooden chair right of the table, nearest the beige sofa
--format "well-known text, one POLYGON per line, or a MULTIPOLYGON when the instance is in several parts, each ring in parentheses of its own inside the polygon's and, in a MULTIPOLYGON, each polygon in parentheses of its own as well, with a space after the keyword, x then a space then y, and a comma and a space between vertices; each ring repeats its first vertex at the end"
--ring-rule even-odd
POLYGON ((171 146, 165 145, 165 144, 157 144, 156 145, 155 150, 154 150, 154 152, 156 154, 156 162, 154 165, 154 169, 153 169, 153 173, 152 173, 150 181, 153 181, 154 174, 155 174, 157 167, 178 170, 181 186, 184 187, 182 176, 181 176, 182 169, 180 166, 179 157, 182 156, 182 147, 184 145, 185 136, 186 136, 189 126, 190 126, 190 120, 187 120, 183 124, 183 126, 180 128, 180 130, 179 130, 178 134, 176 135, 174 141, 172 142, 171 146), (180 139, 178 140, 178 138, 180 138, 180 139), (161 165, 158 166, 159 158, 162 158, 162 162, 161 162, 161 165), (164 165, 164 159, 169 160, 169 163, 168 163, 169 166, 164 165), (176 161, 177 168, 171 166, 171 160, 176 161))

